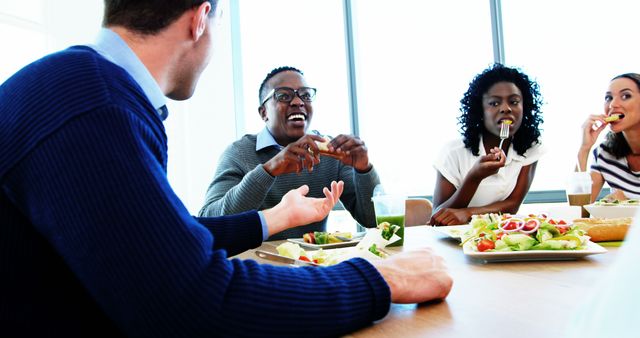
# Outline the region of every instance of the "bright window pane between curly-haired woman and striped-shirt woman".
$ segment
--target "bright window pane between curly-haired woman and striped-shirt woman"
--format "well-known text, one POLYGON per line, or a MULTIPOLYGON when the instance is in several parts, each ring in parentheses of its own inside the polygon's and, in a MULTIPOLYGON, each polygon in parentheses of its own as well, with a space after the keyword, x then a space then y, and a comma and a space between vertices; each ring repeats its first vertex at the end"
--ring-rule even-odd
POLYGON ((502 2, 506 63, 536 78, 546 102, 547 154, 531 190, 565 188, 581 125, 603 112, 609 80, 640 72, 638 10, 640 3, 628 0, 502 2))

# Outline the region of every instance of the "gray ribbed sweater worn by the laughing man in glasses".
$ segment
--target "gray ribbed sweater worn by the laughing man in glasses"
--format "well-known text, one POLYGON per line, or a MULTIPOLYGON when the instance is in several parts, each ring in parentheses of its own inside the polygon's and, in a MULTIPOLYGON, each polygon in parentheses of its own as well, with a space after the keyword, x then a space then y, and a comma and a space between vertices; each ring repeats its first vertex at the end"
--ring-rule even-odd
MULTIPOLYGON (((309 185, 308 196, 324 197, 323 187, 329 187, 331 181, 342 180, 344 192, 340 201, 344 207, 363 226, 375 226, 371 196, 380 179, 374 168, 367 173, 358 173, 353 167, 323 156, 311 173, 304 170, 300 174, 272 177, 262 164, 273 158, 279 150, 268 147, 256 152, 256 137, 245 135, 224 151, 200 216, 222 216, 252 209, 268 209, 278 204, 289 190, 303 184, 309 185)), ((305 232, 324 231, 326 223, 325 218, 321 222, 288 229, 269 239, 302 237, 305 232)))

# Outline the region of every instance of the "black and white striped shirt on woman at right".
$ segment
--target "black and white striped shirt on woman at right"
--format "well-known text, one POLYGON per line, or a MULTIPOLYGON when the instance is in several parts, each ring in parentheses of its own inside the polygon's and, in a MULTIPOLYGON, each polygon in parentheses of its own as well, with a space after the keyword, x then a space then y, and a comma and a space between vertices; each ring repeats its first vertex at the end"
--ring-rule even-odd
POLYGON ((626 157, 616 158, 602 148, 593 149, 591 171, 602 174, 611 188, 622 190, 628 198, 640 198, 640 172, 631 171, 626 157))

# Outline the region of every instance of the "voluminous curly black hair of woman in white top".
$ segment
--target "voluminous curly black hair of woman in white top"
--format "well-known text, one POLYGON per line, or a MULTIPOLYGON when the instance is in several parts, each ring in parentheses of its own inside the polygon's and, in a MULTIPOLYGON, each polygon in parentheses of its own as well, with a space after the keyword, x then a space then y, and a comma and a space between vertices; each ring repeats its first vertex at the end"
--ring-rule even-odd
POLYGON ((460 100, 462 114, 458 117, 458 124, 464 145, 473 155, 479 155, 480 136, 484 130, 482 95, 498 82, 513 83, 522 92, 522 125, 513 136, 512 144, 518 154, 524 155, 534 144, 540 143, 539 126, 544 122, 540 111, 542 95, 534 80, 529 79, 520 70, 505 67, 500 63, 493 64, 476 75, 460 100))

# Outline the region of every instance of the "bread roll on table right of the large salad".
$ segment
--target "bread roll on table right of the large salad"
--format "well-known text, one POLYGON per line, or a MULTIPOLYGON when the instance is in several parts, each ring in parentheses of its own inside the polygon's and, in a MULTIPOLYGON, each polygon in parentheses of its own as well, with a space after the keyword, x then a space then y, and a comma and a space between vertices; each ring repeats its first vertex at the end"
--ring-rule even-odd
POLYGON ((624 218, 578 218, 573 224, 587 232, 592 242, 621 241, 626 236, 633 219, 624 218))

